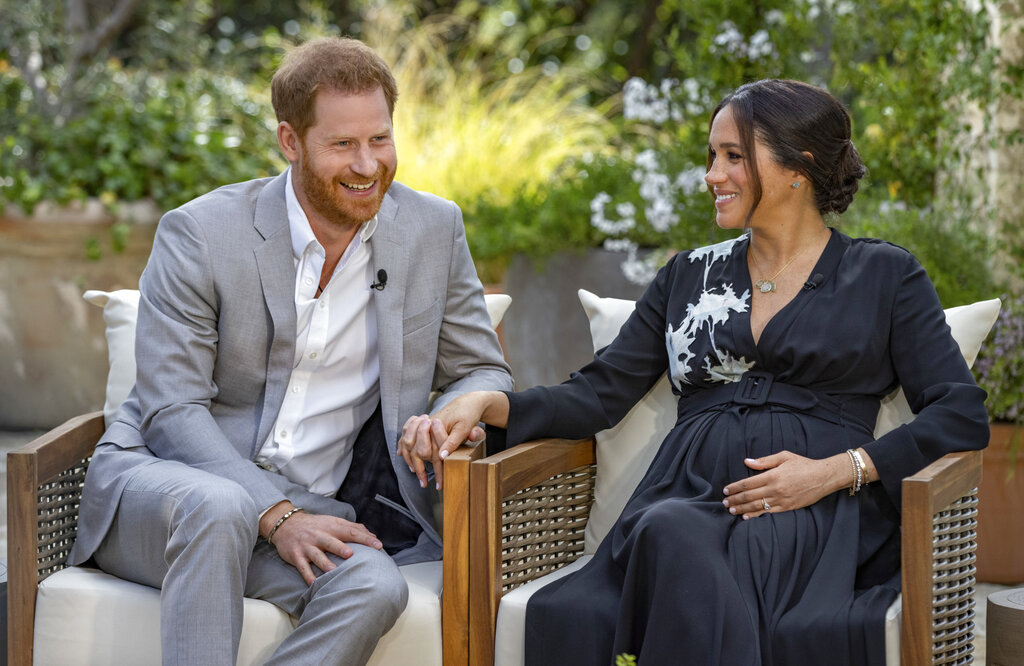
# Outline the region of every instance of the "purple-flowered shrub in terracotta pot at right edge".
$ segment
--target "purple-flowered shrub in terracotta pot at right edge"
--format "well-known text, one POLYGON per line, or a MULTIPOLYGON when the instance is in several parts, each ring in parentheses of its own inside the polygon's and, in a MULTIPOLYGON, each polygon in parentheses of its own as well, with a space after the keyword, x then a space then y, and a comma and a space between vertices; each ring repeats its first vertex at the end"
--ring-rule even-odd
POLYGON ((995 326, 974 366, 978 384, 988 391, 993 421, 1024 424, 1024 296, 1004 296, 995 326))

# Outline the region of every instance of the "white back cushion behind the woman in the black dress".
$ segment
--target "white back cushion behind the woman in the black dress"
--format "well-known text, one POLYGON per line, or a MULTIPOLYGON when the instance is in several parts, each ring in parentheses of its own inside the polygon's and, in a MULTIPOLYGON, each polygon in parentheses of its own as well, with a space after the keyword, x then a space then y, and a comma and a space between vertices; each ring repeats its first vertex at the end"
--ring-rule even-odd
MULTIPOLYGON (((633 313, 634 301, 600 298, 585 289, 579 294, 590 319, 596 351, 618 335, 618 329, 633 313)), ((974 364, 982 341, 999 314, 999 300, 993 298, 945 310, 946 323, 968 365, 974 364)), ((874 436, 878 439, 911 420, 913 413, 903 389, 897 388, 882 401, 874 436)), ((615 427, 597 433, 597 484, 584 535, 584 552, 593 553, 597 549, 675 423, 676 397, 665 375, 615 427)))

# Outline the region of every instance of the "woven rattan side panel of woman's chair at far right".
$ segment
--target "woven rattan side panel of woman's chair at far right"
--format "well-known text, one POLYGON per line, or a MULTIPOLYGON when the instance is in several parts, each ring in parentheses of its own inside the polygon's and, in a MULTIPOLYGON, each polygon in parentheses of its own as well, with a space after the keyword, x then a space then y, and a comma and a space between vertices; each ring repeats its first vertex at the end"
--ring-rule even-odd
POLYGON ((974 661, 978 495, 962 497, 932 522, 932 663, 974 661))

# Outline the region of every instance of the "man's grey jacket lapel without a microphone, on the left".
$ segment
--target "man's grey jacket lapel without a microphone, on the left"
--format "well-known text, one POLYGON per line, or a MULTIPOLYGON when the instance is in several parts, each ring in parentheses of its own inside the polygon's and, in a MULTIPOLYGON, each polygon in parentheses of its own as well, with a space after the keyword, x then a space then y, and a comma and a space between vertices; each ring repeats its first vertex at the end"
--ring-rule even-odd
POLYGON ((287 172, 267 184, 256 200, 253 222, 263 237, 256 246, 256 268, 267 313, 270 315, 270 348, 267 350, 266 391, 259 432, 254 443, 255 456, 266 441, 285 399, 285 388, 295 361, 295 261, 292 256, 292 235, 285 204, 287 172))

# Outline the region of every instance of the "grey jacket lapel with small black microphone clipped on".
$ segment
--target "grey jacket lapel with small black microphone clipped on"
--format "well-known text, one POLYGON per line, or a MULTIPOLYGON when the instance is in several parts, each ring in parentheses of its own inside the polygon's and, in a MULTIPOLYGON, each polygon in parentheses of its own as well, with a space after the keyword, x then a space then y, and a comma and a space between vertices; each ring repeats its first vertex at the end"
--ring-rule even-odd
MULTIPOLYGON (((409 257, 399 238, 401 230, 398 227, 397 215, 398 204, 390 195, 385 196, 380 212, 377 213, 377 231, 370 239, 374 275, 380 269, 387 273, 387 287, 374 291, 381 364, 381 409, 384 431, 387 433, 396 432, 400 425, 398 397, 401 390, 401 320, 409 273, 409 257)), ((392 448, 395 444, 388 442, 392 448)))

